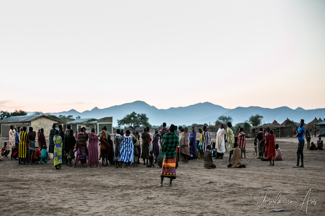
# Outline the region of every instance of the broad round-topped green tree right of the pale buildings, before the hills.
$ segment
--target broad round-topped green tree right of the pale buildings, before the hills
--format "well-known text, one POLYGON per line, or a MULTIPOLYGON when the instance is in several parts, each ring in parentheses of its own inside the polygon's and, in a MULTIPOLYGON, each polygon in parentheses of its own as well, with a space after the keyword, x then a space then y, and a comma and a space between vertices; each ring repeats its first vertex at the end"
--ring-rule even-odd
POLYGON ((136 113, 131 112, 130 114, 127 114, 124 116, 124 118, 117 120, 119 126, 126 125, 127 127, 131 128, 132 130, 135 130, 135 128, 142 126, 148 126, 149 118, 145 113, 136 113))

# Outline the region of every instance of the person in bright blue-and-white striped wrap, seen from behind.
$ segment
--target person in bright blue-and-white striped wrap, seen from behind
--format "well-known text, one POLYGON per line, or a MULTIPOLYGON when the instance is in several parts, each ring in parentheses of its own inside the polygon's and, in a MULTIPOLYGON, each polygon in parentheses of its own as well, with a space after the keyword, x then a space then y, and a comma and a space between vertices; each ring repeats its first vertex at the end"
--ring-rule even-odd
POLYGON ((128 163, 130 162, 130 165, 133 163, 133 151, 134 151, 134 145, 132 142, 132 137, 130 136, 130 131, 127 130, 125 134, 123 135, 123 140, 121 144, 121 151, 120 151, 120 158, 123 161, 122 168, 124 168, 124 164, 126 168, 128 168, 128 163))

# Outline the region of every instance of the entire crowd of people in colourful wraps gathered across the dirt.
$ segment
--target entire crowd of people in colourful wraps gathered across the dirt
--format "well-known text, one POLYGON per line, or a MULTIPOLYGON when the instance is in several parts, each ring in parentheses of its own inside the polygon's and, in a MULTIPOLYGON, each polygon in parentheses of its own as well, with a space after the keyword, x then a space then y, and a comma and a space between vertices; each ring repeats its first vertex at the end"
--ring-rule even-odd
MULTIPOLYGON (((300 122, 297 130, 298 149, 297 149, 297 165, 296 167, 304 167, 303 165, 303 148, 304 148, 304 120, 300 122), (301 165, 299 165, 301 160, 301 165)), ((99 167, 99 161, 102 160, 102 166, 109 164, 116 168, 137 167, 140 159, 143 165, 147 167, 155 167, 158 164, 161 168, 161 186, 165 177, 170 179, 169 185, 172 186, 172 180, 176 178, 176 168, 179 162, 188 163, 189 160, 204 159, 204 167, 214 169, 216 165, 214 159, 223 159, 225 152, 229 148, 228 167, 244 168, 242 164, 243 156, 246 158, 246 138, 243 128, 239 129, 239 135, 235 136, 232 129, 232 123, 228 122, 225 129, 221 124, 216 133, 216 142, 211 142, 211 136, 207 131, 207 127, 203 126, 203 130, 199 129, 200 140, 197 141, 197 133, 195 127, 189 133, 187 127, 182 128, 171 124, 166 128, 166 123, 162 124, 162 130, 154 130, 153 135, 150 128, 146 127, 139 134, 136 131, 117 129, 113 137, 107 131, 106 126, 102 128, 99 134, 95 134, 95 130, 91 129, 88 134, 85 128, 81 128, 80 132, 71 129, 71 125, 67 125, 64 131, 63 126, 59 125, 58 130, 53 124, 49 132, 49 144, 46 144, 44 129, 41 128, 38 133, 33 127, 16 129, 10 126, 9 131, 9 150, 7 143, 2 146, 0 153, 4 157, 10 155, 12 160, 18 160, 18 164, 47 165, 51 160, 49 153, 53 154, 53 164, 56 170, 62 169, 62 165, 69 167, 77 167, 79 161, 81 167, 99 167), (177 130, 178 129, 178 130, 177 130), (36 143, 38 137, 38 146, 36 143), (141 144, 140 144, 141 137, 141 144), (88 142, 88 144, 87 144, 88 142), (99 144, 98 144, 99 143, 99 144), (100 153, 98 153, 98 145, 100 145, 100 153), (48 150, 47 150, 48 149, 48 150), (244 154, 244 155, 243 155, 244 154)), ((258 153, 258 159, 269 161, 269 166, 274 166, 274 161, 282 160, 282 152, 279 144, 275 144, 275 134, 270 128, 260 128, 254 139, 255 151, 258 153)), ((310 142, 309 133, 306 134, 307 149, 323 150, 323 141, 321 136, 317 141, 318 146, 310 142)))

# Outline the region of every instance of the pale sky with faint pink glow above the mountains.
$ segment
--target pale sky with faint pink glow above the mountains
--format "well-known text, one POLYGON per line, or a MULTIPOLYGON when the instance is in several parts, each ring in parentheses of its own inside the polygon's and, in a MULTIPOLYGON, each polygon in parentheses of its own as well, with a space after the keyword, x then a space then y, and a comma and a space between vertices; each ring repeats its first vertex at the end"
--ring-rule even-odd
POLYGON ((324 0, 0 2, 0 109, 325 108, 324 0))

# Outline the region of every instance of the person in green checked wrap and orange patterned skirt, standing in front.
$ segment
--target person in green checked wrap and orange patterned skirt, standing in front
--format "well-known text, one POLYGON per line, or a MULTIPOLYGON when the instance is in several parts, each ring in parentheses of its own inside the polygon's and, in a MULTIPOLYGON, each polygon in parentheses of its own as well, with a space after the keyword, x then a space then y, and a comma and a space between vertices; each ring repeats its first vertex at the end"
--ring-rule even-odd
POLYGON ((162 152, 164 154, 162 162, 161 182, 163 186, 164 177, 169 178, 169 186, 174 186, 172 180, 176 179, 176 168, 178 167, 176 149, 179 146, 179 138, 175 134, 175 125, 171 124, 169 132, 163 135, 162 152))

